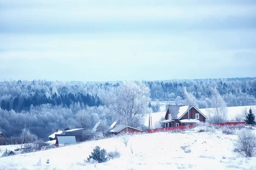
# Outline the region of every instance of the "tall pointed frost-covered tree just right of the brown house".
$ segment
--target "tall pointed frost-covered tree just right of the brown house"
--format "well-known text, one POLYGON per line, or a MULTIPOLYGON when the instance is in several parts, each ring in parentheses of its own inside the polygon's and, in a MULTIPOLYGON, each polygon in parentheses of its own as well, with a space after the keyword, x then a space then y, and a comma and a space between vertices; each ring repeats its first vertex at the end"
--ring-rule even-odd
POLYGON ((210 123, 223 123, 227 120, 227 104, 217 90, 213 88, 211 92, 212 108, 207 109, 208 121, 210 123))

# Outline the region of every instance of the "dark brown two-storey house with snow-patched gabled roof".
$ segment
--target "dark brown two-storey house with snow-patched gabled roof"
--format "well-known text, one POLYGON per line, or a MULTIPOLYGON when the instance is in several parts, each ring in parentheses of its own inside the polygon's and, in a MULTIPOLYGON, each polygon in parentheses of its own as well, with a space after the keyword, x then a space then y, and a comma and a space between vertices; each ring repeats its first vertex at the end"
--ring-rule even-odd
POLYGON ((166 110, 165 120, 161 121, 165 127, 177 127, 205 122, 207 117, 194 105, 169 105, 166 110))

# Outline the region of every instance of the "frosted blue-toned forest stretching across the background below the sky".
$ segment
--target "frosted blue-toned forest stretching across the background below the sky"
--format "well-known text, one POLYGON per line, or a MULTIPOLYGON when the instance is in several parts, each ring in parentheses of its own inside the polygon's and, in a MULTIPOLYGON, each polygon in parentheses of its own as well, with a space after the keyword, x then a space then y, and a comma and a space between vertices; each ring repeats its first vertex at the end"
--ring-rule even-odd
MULTIPOLYGON (((86 110, 93 121, 113 121, 109 94, 118 94, 123 82, 63 82, 18 80, 0 82, 0 130, 7 136, 18 135, 27 125, 46 139, 55 128, 79 127, 76 114, 86 110)), ((183 79, 143 81, 153 101, 185 104, 186 93, 195 97, 199 108, 212 106, 209 97, 217 88, 227 106, 256 105, 256 78, 183 79), (186 91, 184 91, 186 88, 186 91)), ((148 102, 148 107, 157 112, 148 102)), ((148 110, 150 111, 150 110, 148 110)), ((89 126, 92 128, 93 123, 89 126)))

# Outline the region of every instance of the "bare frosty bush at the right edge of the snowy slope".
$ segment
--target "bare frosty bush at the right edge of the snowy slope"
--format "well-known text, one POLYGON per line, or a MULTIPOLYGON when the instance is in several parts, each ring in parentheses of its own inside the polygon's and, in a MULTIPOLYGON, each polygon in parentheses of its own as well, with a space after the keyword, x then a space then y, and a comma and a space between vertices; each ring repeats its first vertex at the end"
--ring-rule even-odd
POLYGON ((239 153, 243 157, 256 156, 256 135, 247 129, 240 130, 237 133, 234 152, 239 153))

